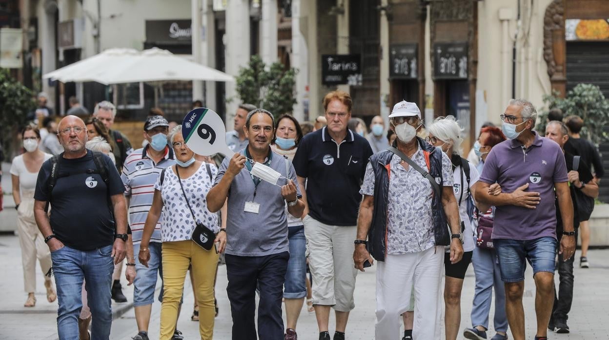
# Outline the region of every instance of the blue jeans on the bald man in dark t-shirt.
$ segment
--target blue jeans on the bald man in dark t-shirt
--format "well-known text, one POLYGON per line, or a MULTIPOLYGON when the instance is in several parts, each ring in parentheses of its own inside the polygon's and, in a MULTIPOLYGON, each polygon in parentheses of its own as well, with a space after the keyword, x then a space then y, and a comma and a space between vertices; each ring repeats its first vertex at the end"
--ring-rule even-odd
POLYGON ((110 338, 112 301, 110 289, 114 263, 112 245, 92 251, 79 251, 65 246, 51 252, 55 285, 57 285, 57 332, 61 340, 78 340, 78 317, 82 308, 82 282, 93 324, 91 339, 110 338))

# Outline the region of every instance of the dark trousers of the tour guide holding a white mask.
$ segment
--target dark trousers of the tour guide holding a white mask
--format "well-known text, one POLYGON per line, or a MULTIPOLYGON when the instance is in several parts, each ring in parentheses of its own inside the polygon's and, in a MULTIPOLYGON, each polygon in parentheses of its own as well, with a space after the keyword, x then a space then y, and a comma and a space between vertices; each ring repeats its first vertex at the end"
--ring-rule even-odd
POLYGON ((289 252, 266 256, 225 255, 233 340, 256 340, 256 288, 259 290, 258 338, 283 340, 281 298, 289 252))

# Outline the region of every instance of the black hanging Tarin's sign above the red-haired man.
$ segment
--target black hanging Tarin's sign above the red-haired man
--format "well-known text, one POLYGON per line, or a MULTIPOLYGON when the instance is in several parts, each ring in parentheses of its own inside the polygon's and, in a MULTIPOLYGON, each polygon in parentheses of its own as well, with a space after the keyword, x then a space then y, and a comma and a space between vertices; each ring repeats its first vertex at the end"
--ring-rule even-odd
POLYGON ((323 85, 362 85, 361 57, 359 54, 322 55, 323 85))

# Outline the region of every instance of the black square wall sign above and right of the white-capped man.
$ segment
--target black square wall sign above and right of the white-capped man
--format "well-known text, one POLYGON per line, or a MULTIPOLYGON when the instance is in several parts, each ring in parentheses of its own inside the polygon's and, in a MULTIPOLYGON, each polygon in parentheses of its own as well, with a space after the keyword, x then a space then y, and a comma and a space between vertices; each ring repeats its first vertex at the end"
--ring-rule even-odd
POLYGON ((434 75, 438 79, 467 79, 467 43, 435 43, 434 75))

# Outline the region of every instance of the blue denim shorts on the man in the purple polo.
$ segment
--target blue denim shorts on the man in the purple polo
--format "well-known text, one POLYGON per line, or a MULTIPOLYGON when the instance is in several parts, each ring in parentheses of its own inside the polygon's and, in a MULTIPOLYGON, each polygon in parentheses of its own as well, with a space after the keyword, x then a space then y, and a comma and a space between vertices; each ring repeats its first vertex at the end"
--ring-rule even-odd
POLYGON ((493 242, 503 282, 523 281, 526 261, 533 267, 533 275, 540 271, 554 273, 556 238, 547 236, 526 241, 496 239, 493 242))

